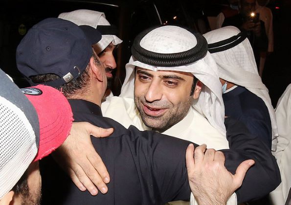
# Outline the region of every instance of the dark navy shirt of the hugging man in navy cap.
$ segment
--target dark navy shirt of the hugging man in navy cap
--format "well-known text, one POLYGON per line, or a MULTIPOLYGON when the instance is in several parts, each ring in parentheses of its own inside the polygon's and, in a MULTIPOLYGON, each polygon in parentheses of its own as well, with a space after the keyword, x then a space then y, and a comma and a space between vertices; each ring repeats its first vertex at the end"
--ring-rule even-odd
MULTIPOLYGON (((160 205, 189 200, 185 151, 190 143, 152 131, 125 129, 112 119, 102 117, 100 107, 85 100, 69 100, 75 121, 87 121, 114 128, 111 137, 91 137, 111 177, 108 193, 91 196, 80 191, 52 159, 41 161, 43 205, 160 205)), ((230 118, 225 120, 229 150, 222 150, 226 168, 235 173, 239 163, 254 159, 236 191, 238 202, 260 198, 280 183, 276 160, 257 137, 230 118)), ((197 146, 197 145, 195 145, 197 146)))

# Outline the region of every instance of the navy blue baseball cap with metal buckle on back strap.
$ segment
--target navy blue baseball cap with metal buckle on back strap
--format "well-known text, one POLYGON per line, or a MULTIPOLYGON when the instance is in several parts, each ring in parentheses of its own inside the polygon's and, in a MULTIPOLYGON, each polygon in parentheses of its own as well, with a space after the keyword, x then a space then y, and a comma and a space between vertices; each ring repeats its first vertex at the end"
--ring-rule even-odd
POLYGON ((30 76, 56 74, 60 78, 42 84, 58 87, 79 77, 92 56, 92 44, 101 40, 93 27, 48 18, 35 24, 16 50, 19 71, 32 86, 30 76))

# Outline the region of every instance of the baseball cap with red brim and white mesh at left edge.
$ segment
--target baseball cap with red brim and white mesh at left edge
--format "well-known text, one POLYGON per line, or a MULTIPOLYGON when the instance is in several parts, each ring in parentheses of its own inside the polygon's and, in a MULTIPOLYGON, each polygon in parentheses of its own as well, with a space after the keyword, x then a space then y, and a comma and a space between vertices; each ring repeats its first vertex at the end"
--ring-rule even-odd
POLYGON ((72 121, 70 105, 60 91, 44 85, 21 91, 0 69, 0 199, 32 161, 65 141, 72 121))

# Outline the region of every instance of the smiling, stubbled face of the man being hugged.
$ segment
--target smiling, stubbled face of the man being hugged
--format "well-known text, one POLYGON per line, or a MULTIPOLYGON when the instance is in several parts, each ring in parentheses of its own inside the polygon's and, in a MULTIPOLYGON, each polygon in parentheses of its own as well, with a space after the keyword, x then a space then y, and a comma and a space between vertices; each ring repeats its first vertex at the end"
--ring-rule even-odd
POLYGON ((134 102, 142 121, 163 132, 182 120, 191 106, 193 75, 136 68, 134 102))

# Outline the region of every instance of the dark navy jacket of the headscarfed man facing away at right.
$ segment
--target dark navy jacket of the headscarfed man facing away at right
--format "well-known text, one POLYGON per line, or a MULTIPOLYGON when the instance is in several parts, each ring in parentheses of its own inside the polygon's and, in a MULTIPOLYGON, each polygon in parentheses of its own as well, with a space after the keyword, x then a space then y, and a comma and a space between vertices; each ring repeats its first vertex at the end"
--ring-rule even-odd
POLYGON ((251 134, 271 149, 272 127, 265 102, 244 87, 223 94, 225 115, 245 123, 251 134))

